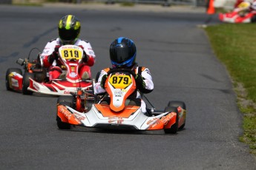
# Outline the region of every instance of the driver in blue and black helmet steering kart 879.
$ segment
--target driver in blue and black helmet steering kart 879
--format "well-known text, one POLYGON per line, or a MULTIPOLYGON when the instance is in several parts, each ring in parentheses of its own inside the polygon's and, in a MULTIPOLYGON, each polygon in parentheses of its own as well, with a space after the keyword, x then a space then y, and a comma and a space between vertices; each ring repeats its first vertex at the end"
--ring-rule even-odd
MULTIPOLYGON (((116 38, 111 43, 109 53, 112 68, 102 69, 102 71, 100 72, 99 78, 98 80, 96 80, 96 84, 94 84, 95 94, 106 92, 104 89, 105 81, 107 79, 108 72, 111 69, 131 69, 136 74, 135 81, 137 91, 135 92, 134 97, 139 99, 142 107, 142 112, 146 113, 146 105, 145 102, 141 99, 140 92, 152 92, 154 89, 154 83, 152 81, 149 69, 146 67, 138 67, 138 64, 136 63, 137 50, 134 41, 125 37, 116 38)), ((135 102, 134 105, 139 104, 135 102)))

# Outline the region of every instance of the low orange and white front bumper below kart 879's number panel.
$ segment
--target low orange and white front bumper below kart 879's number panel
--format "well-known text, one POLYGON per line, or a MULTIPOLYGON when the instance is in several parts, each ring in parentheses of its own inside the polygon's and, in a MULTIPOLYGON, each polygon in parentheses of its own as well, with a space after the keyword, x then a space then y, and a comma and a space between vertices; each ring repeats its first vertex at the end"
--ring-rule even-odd
POLYGON ((58 106, 58 116, 62 122, 97 128, 158 130, 169 129, 176 123, 176 112, 164 112, 148 117, 139 106, 125 106, 121 112, 113 112, 109 105, 93 104, 89 112, 78 112, 69 106, 58 106))

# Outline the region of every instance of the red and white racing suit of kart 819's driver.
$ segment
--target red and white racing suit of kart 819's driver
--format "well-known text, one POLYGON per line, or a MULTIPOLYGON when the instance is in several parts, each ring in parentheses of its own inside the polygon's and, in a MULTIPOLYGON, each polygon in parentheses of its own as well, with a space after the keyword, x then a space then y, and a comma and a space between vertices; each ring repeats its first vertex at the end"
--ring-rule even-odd
MULTIPOLYGON (((93 66, 96 58, 91 44, 88 41, 77 39, 73 45, 82 47, 85 52, 82 63, 79 64, 79 77, 86 77, 85 79, 91 78, 90 67, 93 66)), ((62 44, 59 38, 53 39, 46 44, 45 49, 40 55, 42 67, 48 68, 49 81, 59 78, 59 75, 62 74, 62 63, 59 61, 59 56, 57 55, 59 47, 61 46, 62 44)))

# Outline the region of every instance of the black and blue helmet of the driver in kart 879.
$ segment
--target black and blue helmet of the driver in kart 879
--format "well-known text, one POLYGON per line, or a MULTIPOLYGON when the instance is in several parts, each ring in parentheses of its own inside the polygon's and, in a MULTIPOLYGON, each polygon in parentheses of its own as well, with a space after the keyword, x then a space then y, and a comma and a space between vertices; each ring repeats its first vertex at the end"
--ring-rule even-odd
POLYGON ((112 66, 130 68, 136 61, 136 46, 129 38, 116 38, 109 49, 112 66))

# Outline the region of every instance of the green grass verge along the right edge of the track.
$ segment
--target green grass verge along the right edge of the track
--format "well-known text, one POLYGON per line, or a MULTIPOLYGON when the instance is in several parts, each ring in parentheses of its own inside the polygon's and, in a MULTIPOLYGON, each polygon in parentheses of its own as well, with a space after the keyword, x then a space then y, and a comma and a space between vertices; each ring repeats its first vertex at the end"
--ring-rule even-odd
POLYGON ((256 155, 256 24, 219 24, 205 28, 215 55, 234 81, 244 134, 256 155), (238 86, 241 84, 242 86, 238 86))

